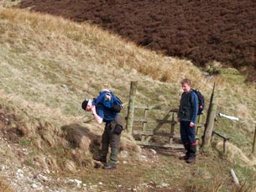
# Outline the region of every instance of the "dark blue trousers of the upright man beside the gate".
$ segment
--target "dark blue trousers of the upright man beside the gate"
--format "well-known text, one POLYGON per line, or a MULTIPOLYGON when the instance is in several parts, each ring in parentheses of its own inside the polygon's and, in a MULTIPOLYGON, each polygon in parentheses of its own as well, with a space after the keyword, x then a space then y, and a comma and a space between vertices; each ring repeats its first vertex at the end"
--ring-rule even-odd
POLYGON ((195 127, 190 127, 190 122, 180 122, 180 138, 186 150, 187 157, 196 157, 196 131, 195 127))

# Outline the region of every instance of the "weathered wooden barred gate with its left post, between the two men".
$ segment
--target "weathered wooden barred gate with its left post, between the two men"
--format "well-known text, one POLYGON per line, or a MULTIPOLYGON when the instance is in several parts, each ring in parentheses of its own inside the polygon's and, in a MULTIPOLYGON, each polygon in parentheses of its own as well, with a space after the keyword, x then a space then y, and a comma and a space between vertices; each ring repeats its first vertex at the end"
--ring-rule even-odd
MULTIPOLYGON (((133 135, 133 138, 135 138, 136 143, 139 145, 184 148, 180 141, 180 124, 177 122, 178 109, 167 106, 135 106, 134 97, 136 95, 136 87, 137 82, 132 82, 129 96, 128 117, 126 117, 127 132, 133 135), (143 112, 137 112, 138 110, 143 110, 143 112), (153 112, 154 115, 149 116, 149 112, 153 112), (144 117, 141 117, 143 116, 142 114, 144 114, 144 117), (136 122, 138 123, 137 127, 135 125, 136 122), (154 137, 165 138, 163 140, 166 140, 166 142, 156 143, 153 141, 154 137)), ((200 116, 197 118, 197 121, 196 134, 198 133, 198 128, 204 126, 204 123, 201 123, 200 116)))

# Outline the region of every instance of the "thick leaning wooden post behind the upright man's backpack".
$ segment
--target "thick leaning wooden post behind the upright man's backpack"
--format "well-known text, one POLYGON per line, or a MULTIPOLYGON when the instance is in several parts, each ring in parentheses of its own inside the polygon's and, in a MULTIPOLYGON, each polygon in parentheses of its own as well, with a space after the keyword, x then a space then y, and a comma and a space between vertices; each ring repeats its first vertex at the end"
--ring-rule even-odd
POLYGON ((209 147, 211 144, 212 130, 214 127, 216 113, 217 113, 217 105, 215 103, 212 103, 209 114, 208 114, 209 117, 208 117, 208 122, 206 123, 202 147, 209 147))

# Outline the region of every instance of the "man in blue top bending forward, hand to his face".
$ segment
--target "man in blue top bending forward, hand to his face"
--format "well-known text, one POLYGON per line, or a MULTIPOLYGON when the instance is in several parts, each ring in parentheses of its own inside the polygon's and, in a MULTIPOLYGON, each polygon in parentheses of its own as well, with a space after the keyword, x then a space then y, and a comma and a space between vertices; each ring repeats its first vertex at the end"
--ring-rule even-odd
POLYGON ((121 132, 123 130, 122 117, 119 115, 122 102, 111 91, 103 89, 93 101, 83 101, 81 107, 86 112, 91 112, 98 123, 106 122, 102 134, 101 155, 94 159, 107 163, 107 153, 110 146, 110 158, 108 163, 103 166, 103 169, 116 169, 121 132))

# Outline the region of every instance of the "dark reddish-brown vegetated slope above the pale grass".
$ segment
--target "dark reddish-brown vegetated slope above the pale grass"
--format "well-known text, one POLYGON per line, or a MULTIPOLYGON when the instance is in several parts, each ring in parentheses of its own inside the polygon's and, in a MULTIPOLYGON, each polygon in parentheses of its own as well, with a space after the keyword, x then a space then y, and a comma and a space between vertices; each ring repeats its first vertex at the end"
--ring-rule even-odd
POLYGON ((28 7, 96 23, 138 45, 188 58, 196 65, 217 60, 256 71, 255 0, 22 0, 20 8, 28 7))

